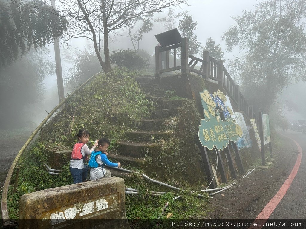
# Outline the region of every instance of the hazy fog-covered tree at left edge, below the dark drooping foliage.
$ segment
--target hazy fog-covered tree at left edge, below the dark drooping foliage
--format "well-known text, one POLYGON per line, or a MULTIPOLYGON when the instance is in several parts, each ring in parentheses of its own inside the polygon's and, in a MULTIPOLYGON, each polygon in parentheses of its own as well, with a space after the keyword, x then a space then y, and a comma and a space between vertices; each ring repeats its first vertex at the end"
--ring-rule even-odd
POLYGON ((29 105, 43 100, 43 79, 54 74, 55 67, 44 55, 46 50, 30 51, 21 60, 0 68, 0 128, 20 128, 33 120, 29 105))

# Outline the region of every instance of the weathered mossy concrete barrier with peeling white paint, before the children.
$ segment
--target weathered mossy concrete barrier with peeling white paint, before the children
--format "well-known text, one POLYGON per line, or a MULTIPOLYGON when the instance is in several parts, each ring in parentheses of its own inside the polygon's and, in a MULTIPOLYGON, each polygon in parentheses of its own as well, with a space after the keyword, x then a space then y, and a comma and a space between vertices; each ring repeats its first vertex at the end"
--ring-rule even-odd
POLYGON ((19 228, 130 228, 124 180, 110 177, 22 195, 19 228))

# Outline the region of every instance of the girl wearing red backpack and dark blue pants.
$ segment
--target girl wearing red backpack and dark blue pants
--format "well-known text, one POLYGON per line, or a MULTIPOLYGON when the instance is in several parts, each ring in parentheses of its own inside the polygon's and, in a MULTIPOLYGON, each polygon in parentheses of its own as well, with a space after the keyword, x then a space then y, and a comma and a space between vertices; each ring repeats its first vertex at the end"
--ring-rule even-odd
POLYGON ((78 142, 73 147, 69 163, 69 171, 73 177, 73 184, 84 182, 87 178, 88 165, 85 165, 84 162, 87 155, 90 155, 98 145, 98 140, 96 140, 89 150, 87 146, 89 136, 90 133, 86 129, 80 129, 77 134, 78 142))

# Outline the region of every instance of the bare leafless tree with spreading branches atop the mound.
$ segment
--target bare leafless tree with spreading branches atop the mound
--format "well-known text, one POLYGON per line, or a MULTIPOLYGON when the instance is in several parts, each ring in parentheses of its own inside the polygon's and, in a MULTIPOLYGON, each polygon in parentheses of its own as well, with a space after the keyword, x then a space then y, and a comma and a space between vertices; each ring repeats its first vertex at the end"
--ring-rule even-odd
POLYGON ((103 70, 109 72, 110 33, 133 27, 137 20, 163 9, 186 3, 187 0, 60 0, 58 14, 66 17, 70 24, 70 38, 86 37, 93 42, 95 53, 103 70), (136 20, 137 19, 137 20, 136 20), (103 44, 104 58, 101 56, 103 44), (104 59, 104 60, 103 60, 104 59))

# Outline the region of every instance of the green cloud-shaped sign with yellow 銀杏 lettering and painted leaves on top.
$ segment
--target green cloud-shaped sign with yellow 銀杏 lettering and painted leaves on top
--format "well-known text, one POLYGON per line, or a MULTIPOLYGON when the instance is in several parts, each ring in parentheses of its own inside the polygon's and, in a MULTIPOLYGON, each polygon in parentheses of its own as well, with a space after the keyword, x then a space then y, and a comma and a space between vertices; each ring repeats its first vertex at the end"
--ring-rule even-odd
MULTIPOLYGON (((213 93, 213 97, 217 96, 223 101, 224 105, 225 95, 218 90, 217 93, 213 93)), ((241 127, 230 115, 226 116, 225 121, 221 120, 220 111, 222 112, 222 109, 226 109, 229 113, 233 113, 233 111, 229 107, 222 107, 221 104, 216 104, 207 89, 200 92, 200 97, 205 119, 200 121, 199 140, 202 146, 207 147, 209 150, 214 147, 218 150, 223 150, 229 144, 229 141, 236 142, 242 136, 241 127)))

